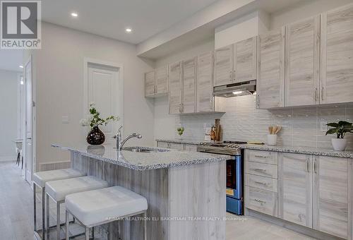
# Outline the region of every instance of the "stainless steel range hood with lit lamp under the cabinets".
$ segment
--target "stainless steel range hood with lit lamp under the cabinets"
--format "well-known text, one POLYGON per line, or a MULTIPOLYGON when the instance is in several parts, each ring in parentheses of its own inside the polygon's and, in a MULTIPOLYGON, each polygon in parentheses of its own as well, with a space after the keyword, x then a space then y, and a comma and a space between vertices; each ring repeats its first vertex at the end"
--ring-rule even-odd
POLYGON ((213 88, 213 95, 215 97, 238 97, 252 95, 254 92, 256 92, 256 80, 232 83, 213 88))

